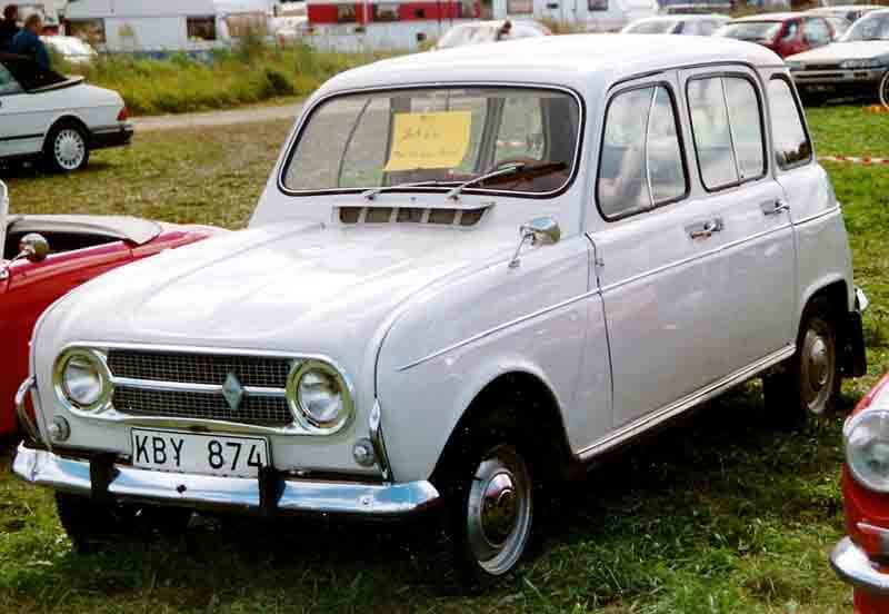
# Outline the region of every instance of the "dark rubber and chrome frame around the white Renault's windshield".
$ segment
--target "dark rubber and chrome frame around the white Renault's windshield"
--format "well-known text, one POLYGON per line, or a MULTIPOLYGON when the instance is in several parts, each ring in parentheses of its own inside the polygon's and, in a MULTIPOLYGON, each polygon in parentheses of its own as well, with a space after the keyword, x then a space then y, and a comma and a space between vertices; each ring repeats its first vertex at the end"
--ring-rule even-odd
MULTIPOLYGON (((567 95, 577 103, 578 110, 578 123, 577 123, 577 138, 575 140, 575 160, 573 165, 571 166, 571 172, 568 175, 568 179, 566 182, 559 187, 557 190, 551 190, 548 192, 528 192, 528 191, 516 191, 516 190, 496 190, 489 188, 466 188, 462 190, 462 194, 467 195, 476 195, 476 196, 498 196, 505 198, 523 198, 529 200, 551 200, 562 196, 565 192, 570 190, 575 182, 577 181, 578 176, 580 175, 581 161, 583 158, 583 146, 586 145, 586 127, 587 127, 587 100, 586 98, 575 88, 568 86, 559 86, 552 83, 516 83, 510 81, 444 81, 444 82, 410 82, 403 85, 394 85, 394 86, 374 86, 374 87, 363 87, 363 88, 348 88, 337 91, 331 91, 323 96, 320 96, 317 100, 311 101, 311 107, 308 109, 307 112, 303 112, 300 118, 297 120, 297 127, 291 131, 291 135, 286 143, 286 154, 281 158, 281 162, 278 165, 277 169, 273 170, 277 175, 276 182, 278 184, 278 191, 284 196, 300 198, 300 197, 318 197, 318 196, 343 196, 343 195, 353 195, 353 194, 361 194, 362 188, 330 188, 330 189, 321 189, 321 190, 294 190, 287 186, 286 184, 286 175, 287 170, 290 168, 292 164, 293 156, 297 152, 297 145, 299 143, 300 137, 302 136, 306 127, 311 121, 314 113, 327 102, 333 100, 334 98, 343 98, 348 96, 360 96, 362 93, 367 95, 377 95, 377 93, 387 93, 387 92, 400 92, 400 91, 410 91, 410 90, 433 90, 440 89, 442 87, 446 88, 509 88, 516 90, 545 90, 550 92, 561 92, 567 95)), ((363 188, 367 189, 367 188, 363 188)), ((450 190, 450 187, 412 187, 412 188, 402 188, 399 189, 397 187, 387 188, 387 194, 404 194, 404 192, 421 192, 421 194, 444 194, 450 190)))

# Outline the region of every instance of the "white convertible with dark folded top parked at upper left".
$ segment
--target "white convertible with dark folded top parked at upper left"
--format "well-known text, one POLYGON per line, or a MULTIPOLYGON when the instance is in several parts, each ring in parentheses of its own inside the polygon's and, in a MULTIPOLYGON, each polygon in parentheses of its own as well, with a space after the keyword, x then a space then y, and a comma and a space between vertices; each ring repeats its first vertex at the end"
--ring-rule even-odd
POLYGON ((118 92, 0 53, 0 162, 41 159, 60 172, 79 170, 91 150, 130 142, 127 117, 118 92))

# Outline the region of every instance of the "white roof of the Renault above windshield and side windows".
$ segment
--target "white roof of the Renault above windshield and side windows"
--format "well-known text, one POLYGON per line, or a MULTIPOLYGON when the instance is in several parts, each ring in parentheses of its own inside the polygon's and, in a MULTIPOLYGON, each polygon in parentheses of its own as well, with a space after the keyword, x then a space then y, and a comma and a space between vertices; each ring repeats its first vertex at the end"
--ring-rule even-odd
POLYGON ((430 82, 553 85, 579 91, 678 66, 741 62, 783 67, 769 49, 723 37, 565 34, 456 47, 366 65, 330 79, 317 92, 430 82))

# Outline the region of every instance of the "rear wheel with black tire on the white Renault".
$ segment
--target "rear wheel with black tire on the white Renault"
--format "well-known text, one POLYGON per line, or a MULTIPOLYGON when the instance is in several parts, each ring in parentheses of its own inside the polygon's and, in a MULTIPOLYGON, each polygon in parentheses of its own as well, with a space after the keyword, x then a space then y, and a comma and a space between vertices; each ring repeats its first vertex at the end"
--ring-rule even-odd
POLYGON ((842 385, 839 351, 837 317, 826 298, 816 298, 802 313, 797 351, 778 373, 762 378, 769 419, 793 428, 829 415, 842 385))

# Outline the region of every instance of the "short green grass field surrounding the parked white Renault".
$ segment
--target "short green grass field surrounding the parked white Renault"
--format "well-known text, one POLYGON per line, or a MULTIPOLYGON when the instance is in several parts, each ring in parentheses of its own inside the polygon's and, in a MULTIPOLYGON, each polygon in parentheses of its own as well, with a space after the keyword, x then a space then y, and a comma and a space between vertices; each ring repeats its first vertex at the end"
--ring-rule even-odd
MULTIPOLYGON (((810 113, 819 151, 886 155, 885 120, 852 132, 857 113, 810 113)), ((98 154, 83 174, 4 179, 17 211, 239 228, 287 129, 144 135, 129 150, 98 154)), ((889 168, 828 169, 857 281, 873 301, 871 375, 847 383, 849 408, 889 369, 889 168)), ((476 597, 442 590, 442 570, 417 535, 423 525, 203 521, 181 541, 78 556, 49 493, 6 475, 8 450, 0 453, 0 612, 848 612, 850 592, 827 564, 843 533, 841 420, 777 433, 758 387, 739 389, 605 462, 559 502, 520 572, 476 597)))

